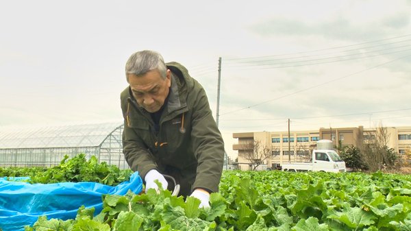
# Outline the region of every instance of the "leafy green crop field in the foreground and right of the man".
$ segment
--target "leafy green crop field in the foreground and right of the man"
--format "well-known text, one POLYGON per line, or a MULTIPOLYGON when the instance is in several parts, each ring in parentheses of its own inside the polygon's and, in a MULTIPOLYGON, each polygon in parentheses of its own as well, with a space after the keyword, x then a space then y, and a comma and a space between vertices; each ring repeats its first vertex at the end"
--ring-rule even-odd
POLYGON ((224 171, 210 208, 169 191, 102 199, 98 214, 80 207, 25 230, 411 230, 410 175, 381 172, 224 171))

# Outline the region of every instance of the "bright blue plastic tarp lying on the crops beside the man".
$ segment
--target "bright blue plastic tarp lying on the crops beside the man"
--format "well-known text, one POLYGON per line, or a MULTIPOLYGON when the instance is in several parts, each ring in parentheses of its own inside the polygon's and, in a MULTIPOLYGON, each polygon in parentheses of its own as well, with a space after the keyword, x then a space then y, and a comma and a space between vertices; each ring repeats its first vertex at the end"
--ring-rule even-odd
POLYGON ((24 226, 32 226, 43 215, 47 219, 75 219, 82 205, 95 207, 98 214, 103 207, 102 195, 125 195, 129 190, 142 191, 138 172, 117 186, 94 182, 29 184, 0 178, 0 228, 3 231, 24 230, 24 226))

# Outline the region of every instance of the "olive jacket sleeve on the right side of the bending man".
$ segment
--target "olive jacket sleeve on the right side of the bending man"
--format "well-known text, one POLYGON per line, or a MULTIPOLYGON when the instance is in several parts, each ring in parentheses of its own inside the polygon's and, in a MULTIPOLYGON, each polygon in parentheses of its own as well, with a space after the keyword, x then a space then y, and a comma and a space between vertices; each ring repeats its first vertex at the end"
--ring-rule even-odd
MULTIPOLYGON (((199 83, 195 82, 195 84, 199 83)), ((197 100, 192 109, 191 121, 191 138, 198 162, 197 176, 192 189, 202 188, 217 192, 224 165, 224 142, 212 117, 206 92, 201 86, 199 88, 197 100)))

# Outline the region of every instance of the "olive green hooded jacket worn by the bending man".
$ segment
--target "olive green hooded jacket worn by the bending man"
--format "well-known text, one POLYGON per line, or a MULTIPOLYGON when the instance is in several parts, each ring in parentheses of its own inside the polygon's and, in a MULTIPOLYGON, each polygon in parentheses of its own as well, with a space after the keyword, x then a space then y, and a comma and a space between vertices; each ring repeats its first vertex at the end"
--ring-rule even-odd
POLYGON ((173 75, 158 134, 149 112, 138 106, 129 87, 121 93, 125 159, 143 180, 151 169, 172 175, 182 186, 180 195, 196 188, 216 192, 223 171, 224 143, 206 92, 184 66, 177 62, 166 65, 173 75))

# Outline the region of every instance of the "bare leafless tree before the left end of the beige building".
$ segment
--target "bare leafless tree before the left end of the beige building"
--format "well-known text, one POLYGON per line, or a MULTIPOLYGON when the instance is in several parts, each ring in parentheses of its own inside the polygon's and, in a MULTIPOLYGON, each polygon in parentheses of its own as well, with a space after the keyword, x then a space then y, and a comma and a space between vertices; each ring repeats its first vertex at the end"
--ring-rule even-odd
POLYGON ((267 158, 271 157, 271 145, 264 145, 261 141, 247 141, 242 145, 242 158, 249 161, 252 170, 255 171, 258 166, 263 165, 267 158))

